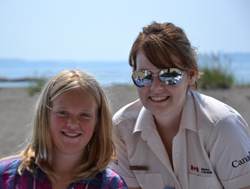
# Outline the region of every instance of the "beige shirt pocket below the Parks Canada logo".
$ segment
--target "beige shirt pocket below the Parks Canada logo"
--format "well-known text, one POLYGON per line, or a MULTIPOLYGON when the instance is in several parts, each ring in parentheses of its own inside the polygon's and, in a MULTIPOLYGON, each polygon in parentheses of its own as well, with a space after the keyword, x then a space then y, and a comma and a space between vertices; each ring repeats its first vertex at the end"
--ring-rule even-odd
POLYGON ((222 184, 216 176, 202 177, 198 175, 188 174, 188 183, 190 189, 223 189, 222 184))

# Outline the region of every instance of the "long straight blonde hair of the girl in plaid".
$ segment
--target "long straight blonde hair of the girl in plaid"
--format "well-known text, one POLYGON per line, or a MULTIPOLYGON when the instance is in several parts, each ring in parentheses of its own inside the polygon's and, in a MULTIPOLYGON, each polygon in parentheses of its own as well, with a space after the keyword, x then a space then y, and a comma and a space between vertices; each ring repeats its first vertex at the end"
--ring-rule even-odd
MULTIPOLYGON (((74 182, 92 179, 103 171, 115 157, 115 145, 112 138, 112 113, 108 99, 100 84, 88 73, 74 69, 58 73, 44 86, 35 107, 33 136, 27 147, 19 154, 22 163, 19 173, 25 167, 34 173, 34 161, 53 182, 55 174, 51 165, 52 138, 50 134, 50 110, 52 101, 65 91, 80 88, 93 97, 98 105, 98 118, 95 132, 89 141, 81 165, 74 172, 74 182)), ((72 182, 73 182, 72 181, 72 182)))

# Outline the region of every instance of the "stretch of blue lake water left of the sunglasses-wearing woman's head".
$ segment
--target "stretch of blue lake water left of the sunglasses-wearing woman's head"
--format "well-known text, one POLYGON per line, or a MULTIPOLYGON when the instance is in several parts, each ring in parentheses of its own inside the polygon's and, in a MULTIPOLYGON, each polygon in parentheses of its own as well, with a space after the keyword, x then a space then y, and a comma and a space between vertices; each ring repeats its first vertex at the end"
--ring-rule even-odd
MULTIPOLYGON (((101 85, 131 83, 132 69, 127 62, 66 62, 0 60, 0 77, 18 79, 25 77, 51 77, 65 69, 80 69, 94 76, 101 85)), ((0 87, 27 87, 29 81, 0 82, 0 87)))

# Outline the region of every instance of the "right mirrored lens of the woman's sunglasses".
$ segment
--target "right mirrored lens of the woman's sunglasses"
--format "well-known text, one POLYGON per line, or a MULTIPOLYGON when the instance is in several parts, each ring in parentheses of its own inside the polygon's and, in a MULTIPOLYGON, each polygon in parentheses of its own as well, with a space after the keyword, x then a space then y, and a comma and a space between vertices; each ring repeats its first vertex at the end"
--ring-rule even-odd
POLYGON ((181 81, 182 72, 177 68, 161 70, 159 79, 167 85, 176 85, 181 81))

